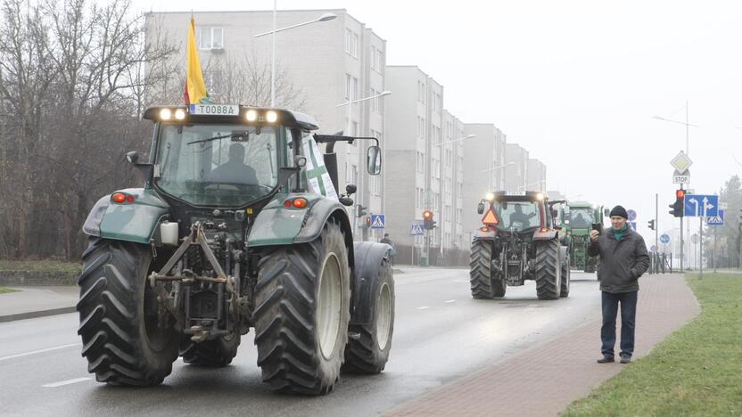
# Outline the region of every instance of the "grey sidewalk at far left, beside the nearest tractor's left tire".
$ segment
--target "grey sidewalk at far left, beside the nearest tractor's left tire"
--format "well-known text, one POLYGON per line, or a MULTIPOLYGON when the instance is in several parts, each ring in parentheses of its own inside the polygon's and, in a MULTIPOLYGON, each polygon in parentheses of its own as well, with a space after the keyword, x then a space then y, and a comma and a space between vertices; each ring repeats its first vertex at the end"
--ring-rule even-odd
POLYGON ((0 323, 73 313, 79 297, 77 285, 7 288, 18 291, 0 294, 0 323))

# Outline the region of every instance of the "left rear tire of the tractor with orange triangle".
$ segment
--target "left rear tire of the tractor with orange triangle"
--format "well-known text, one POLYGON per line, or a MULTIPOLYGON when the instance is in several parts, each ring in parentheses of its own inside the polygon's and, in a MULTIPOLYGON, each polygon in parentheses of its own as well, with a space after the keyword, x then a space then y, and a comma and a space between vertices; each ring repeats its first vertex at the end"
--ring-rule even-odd
POLYGON ((502 274, 492 271, 492 242, 473 241, 469 263, 469 284, 472 298, 504 297, 507 282, 502 274))

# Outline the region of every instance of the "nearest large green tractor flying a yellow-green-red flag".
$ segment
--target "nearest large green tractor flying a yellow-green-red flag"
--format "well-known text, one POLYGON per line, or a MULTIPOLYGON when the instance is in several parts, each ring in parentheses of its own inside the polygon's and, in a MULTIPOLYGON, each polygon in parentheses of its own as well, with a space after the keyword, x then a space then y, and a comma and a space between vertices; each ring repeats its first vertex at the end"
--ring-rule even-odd
POLYGON ((394 326, 388 245, 354 242, 334 143, 311 117, 242 105, 154 107, 144 188, 98 200, 83 230, 78 334, 88 372, 152 386, 182 356, 219 367, 255 331, 262 379, 321 395, 342 372, 382 372, 394 326), (326 143, 319 151, 317 143, 326 143), (325 162, 323 164, 323 161, 325 162))

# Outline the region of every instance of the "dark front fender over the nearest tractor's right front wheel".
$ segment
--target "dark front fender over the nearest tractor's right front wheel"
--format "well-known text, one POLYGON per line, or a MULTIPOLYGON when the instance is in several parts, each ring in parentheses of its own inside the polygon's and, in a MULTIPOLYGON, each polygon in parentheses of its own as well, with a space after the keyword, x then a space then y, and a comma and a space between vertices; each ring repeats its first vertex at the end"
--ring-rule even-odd
POLYGON ((375 301, 375 280, 380 276, 384 259, 389 262, 387 254, 390 246, 375 241, 357 241, 353 246, 356 262, 353 266, 353 314, 350 324, 368 324, 373 319, 371 313, 374 309, 370 305, 375 301))

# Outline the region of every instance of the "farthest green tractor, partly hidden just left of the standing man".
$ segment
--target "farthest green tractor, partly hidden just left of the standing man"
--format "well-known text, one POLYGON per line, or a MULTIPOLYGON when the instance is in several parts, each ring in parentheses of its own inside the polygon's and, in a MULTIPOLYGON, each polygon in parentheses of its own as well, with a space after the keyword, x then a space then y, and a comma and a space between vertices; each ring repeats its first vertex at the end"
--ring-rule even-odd
POLYGON ((565 230, 565 239, 569 247, 572 268, 586 273, 596 271, 598 258, 588 256, 592 229, 602 229, 603 209, 585 201, 570 201, 559 208, 561 225, 565 230))

